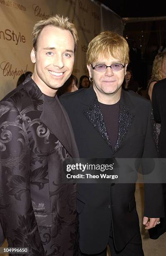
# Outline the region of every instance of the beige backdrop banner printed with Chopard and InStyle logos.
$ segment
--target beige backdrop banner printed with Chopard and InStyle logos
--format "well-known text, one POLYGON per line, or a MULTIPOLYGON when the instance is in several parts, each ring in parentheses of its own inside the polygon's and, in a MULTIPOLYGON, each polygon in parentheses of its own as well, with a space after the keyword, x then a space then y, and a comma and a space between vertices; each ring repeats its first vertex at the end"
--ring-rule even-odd
POLYGON ((123 33, 121 18, 92 0, 0 0, 0 100, 16 87, 21 74, 33 72, 30 60, 32 28, 51 15, 69 17, 78 31, 79 44, 73 74, 88 74, 89 41, 104 30, 123 33))

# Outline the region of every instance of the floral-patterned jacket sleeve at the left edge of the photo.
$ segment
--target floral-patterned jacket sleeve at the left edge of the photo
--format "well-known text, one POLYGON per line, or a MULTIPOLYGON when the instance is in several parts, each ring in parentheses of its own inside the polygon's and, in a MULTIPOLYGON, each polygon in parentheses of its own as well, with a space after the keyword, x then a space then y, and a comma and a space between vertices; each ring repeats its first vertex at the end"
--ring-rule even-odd
POLYGON ((0 102, 0 243, 7 238, 9 247, 28 247, 27 256, 45 255, 30 197, 24 118, 12 102, 0 102))

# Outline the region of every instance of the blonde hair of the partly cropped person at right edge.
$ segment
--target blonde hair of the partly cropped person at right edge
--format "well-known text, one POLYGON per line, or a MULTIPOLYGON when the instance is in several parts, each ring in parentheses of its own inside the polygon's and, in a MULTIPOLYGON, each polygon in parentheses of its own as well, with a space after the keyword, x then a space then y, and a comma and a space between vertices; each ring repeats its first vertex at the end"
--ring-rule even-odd
POLYGON ((153 62, 153 68, 151 72, 151 78, 149 80, 148 85, 152 81, 159 81, 164 79, 163 76, 163 65, 164 65, 164 59, 166 58, 166 52, 160 52, 156 55, 154 62, 153 62))

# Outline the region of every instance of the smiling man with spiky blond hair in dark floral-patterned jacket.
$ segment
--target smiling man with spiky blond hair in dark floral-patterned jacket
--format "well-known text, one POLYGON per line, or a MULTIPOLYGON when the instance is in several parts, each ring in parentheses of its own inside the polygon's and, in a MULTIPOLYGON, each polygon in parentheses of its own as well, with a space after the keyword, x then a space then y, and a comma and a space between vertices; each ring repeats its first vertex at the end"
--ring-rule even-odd
POLYGON ((35 24, 32 38, 32 77, 0 102, 0 246, 7 238, 27 248, 19 255, 73 256, 76 185, 61 177, 78 150, 56 93, 72 74, 77 31, 56 15, 35 24))

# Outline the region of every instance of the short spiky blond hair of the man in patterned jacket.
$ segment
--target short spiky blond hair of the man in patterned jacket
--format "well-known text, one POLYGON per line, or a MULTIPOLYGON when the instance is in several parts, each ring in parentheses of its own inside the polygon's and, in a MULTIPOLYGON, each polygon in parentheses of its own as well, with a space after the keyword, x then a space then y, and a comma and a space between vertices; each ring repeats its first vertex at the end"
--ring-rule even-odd
POLYGON ((78 34, 77 30, 73 23, 69 22, 67 17, 60 17, 59 15, 52 16, 47 20, 40 20, 37 22, 32 31, 32 40, 33 40, 33 47, 35 49, 35 53, 37 51, 37 40, 42 32, 43 28, 46 26, 53 25, 57 28, 65 29, 70 31, 74 39, 74 51, 77 49, 77 41, 78 41, 78 34))

